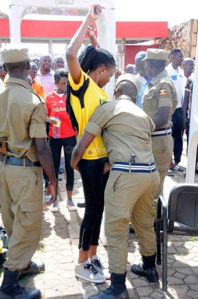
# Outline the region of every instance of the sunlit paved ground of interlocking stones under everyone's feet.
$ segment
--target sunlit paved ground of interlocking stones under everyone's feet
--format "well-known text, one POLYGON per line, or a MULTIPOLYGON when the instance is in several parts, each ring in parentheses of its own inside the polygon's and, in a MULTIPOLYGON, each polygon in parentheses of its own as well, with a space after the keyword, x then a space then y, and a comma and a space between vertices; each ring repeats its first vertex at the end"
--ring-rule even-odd
MULTIPOLYGON (((182 166, 186 166, 186 151, 183 152, 182 166)), ((183 173, 167 177, 165 196, 178 182, 184 182, 183 173)), ((196 177, 198 182, 198 176, 196 177)), ((75 173, 74 200, 77 203, 84 199, 83 188, 79 174, 75 173)), ((86 283, 75 278, 75 262, 78 259, 78 238, 80 222, 84 209, 69 212, 66 208, 65 180, 59 184, 60 210, 49 211, 44 205, 43 227, 39 248, 33 260, 45 262, 46 271, 38 276, 26 278, 23 285, 39 288, 43 299, 87 299, 91 294, 105 289, 108 282, 100 285, 86 283)), ((128 234, 128 264, 127 288, 130 299, 198 299, 198 238, 173 237, 168 242, 168 291, 161 290, 160 283, 151 284, 130 272, 133 263, 140 262, 137 238, 128 234)), ((98 254, 104 265, 108 266, 107 248, 100 243, 98 254)), ((2 280, 2 276, 0 281, 2 280)))

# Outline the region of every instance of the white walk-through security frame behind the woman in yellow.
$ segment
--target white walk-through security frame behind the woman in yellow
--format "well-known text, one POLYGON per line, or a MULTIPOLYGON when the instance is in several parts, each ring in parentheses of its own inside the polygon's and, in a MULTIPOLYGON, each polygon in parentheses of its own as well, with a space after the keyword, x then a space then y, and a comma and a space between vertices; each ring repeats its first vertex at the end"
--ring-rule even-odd
MULTIPOLYGON (((99 44, 115 55, 115 17, 111 0, 97 1, 106 9, 97 20, 99 44)), ((19 44, 21 40, 20 24, 23 16, 29 13, 61 14, 70 16, 86 15, 93 0, 10 0, 10 42, 19 44)), ((114 78, 105 87, 109 99, 113 98, 114 78)))

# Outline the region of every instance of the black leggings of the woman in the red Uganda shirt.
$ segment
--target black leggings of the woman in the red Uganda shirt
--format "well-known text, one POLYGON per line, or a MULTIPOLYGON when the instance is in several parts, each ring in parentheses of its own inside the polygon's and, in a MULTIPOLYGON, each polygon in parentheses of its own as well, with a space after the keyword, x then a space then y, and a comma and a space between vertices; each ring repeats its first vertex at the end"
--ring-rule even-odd
POLYGON ((54 170, 56 178, 58 179, 60 162, 61 162, 61 149, 64 148, 65 155, 65 170, 67 175, 66 189, 67 191, 72 191, 74 187, 74 169, 71 167, 71 156, 72 150, 76 146, 76 136, 68 138, 58 138, 55 139, 50 137, 49 147, 52 152, 52 159, 54 163, 54 170))

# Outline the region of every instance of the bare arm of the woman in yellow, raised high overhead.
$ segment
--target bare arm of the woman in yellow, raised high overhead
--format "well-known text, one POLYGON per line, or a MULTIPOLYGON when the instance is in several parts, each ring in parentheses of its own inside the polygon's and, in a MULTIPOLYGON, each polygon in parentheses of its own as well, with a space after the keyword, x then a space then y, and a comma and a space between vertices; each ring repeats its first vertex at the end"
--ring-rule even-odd
POLYGON ((102 8, 104 7, 100 6, 99 4, 94 4, 90 7, 86 19, 73 36, 69 44, 69 48, 66 51, 68 69, 76 84, 78 84, 81 79, 81 66, 78 61, 78 51, 83 43, 88 27, 90 26, 92 21, 98 19, 99 14, 102 11, 102 8))

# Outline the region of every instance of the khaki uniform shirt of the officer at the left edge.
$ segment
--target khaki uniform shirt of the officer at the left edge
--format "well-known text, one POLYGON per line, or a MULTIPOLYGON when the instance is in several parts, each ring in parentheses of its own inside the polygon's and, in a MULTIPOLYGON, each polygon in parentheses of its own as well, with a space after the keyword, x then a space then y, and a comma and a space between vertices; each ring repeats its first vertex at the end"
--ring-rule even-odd
POLYGON ((33 138, 46 138, 46 108, 31 86, 9 77, 0 89, 0 140, 7 139, 8 155, 38 160, 33 138))

